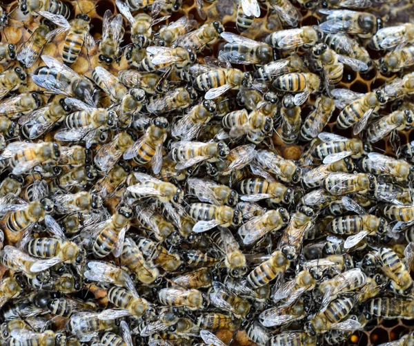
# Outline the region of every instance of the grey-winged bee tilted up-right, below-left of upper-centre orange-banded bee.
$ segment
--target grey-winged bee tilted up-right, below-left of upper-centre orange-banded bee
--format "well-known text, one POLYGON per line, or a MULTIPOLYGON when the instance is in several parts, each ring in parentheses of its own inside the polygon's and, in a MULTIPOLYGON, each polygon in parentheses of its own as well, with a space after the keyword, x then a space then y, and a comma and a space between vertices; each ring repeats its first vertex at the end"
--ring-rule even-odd
POLYGON ((197 92, 191 86, 177 88, 163 97, 153 99, 147 106, 152 114, 167 113, 172 110, 185 109, 197 99, 197 92))

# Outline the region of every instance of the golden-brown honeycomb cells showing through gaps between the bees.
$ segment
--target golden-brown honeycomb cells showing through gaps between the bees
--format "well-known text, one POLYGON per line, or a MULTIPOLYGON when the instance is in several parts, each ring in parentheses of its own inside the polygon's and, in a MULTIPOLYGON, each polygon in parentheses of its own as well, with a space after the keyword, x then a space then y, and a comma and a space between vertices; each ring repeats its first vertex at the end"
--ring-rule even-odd
MULTIPOLYGON (((26 41, 30 35, 30 30, 34 30, 39 25, 39 17, 33 18, 31 16, 24 17, 19 8, 17 1, 3 0, 3 8, 10 12, 14 8, 17 8, 11 14, 11 20, 9 21, 9 26, 5 28, 3 32, 0 32, 0 41, 8 41, 16 46, 20 46, 24 41, 26 41)), ((298 4, 296 3, 298 6, 298 4)), ((225 30, 229 32, 237 33, 235 28, 235 17, 237 12, 237 4, 233 0, 217 0, 213 3, 204 3, 204 10, 207 14, 206 21, 219 20, 224 24, 225 30)), ((91 18, 92 29, 90 33, 95 38, 95 41, 101 38, 102 30, 102 17, 103 13, 106 10, 111 10, 112 13, 117 14, 117 7, 115 6, 115 0, 79 0, 72 1, 72 19, 79 13, 88 12, 88 16, 91 18)), ((313 10, 304 10, 301 8, 303 15, 302 26, 310 26, 318 24, 322 21, 322 17, 319 13, 313 10)), ((414 23, 414 2, 413 1, 400 1, 397 4, 388 4, 388 3, 375 3, 373 8, 369 9, 369 12, 373 13, 377 17, 380 17, 387 26, 395 25, 395 23, 402 22, 411 22, 414 23)), ((191 0, 184 0, 181 9, 177 12, 172 13, 171 17, 167 20, 174 21, 183 15, 193 15, 199 23, 203 21, 197 13, 197 8, 195 2, 191 0)), ((131 43, 130 41, 130 32, 128 31, 128 23, 124 19, 124 27, 126 32, 124 35, 124 42, 122 46, 126 46, 131 43)), ((157 28, 157 26, 155 26, 157 28)), ((248 36, 251 39, 261 40, 266 37, 271 32, 275 30, 282 30, 282 24, 280 23, 277 16, 272 15, 272 13, 264 13, 262 10, 262 15, 260 18, 255 18, 253 25, 244 33, 242 36, 248 36), (266 19, 266 20, 264 20, 266 19)), ((51 55, 61 60, 61 51, 63 47, 65 35, 60 35, 54 39, 51 44, 48 44, 43 50, 43 54, 51 55)), ((366 42, 367 43, 367 42, 366 42)), ((217 53, 219 47, 218 45, 211 47, 212 52, 217 53)), ((375 50, 370 50, 367 48, 371 58, 377 59, 382 55, 383 52, 377 52, 375 50)), ((97 46, 94 50, 86 52, 85 48, 82 49, 81 54, 77 58, 75 64, 70 66, 75 70, 79 75, 86 75, 90 77, 90 74, 96 66, 103 66, 110 71, 110 73, 117 75, 119 70, 124 70, 128 68, 128 63, 124 57, 122 57, 117 63, 111 64, 109 67, 106 64, 101 64, 98 60, 98 49, 97 46)), ((211 54, 211 52, 208 52, 211 54)), ((210 55, 208 54, 208 55, 210 55)), ((211 54, 213 55, 213 54, 211 54)), ((214 54, 217 56, 217 54, 214 54)), ((202 55, 201 55, 202 57, 202 55)), ((34 70, 41 65, 41 59, 38 59, 36 64, 28 69, 28 73, 34 73, 34 70)), ((14 61, 14 65, 18 66, 18 62, 14 61)), ((4 66, 0 65, 0 73, 4 70, 4 66)), ((409 72, 409 70, 406 70, 409 72)), ((359 73, 351 70, 345 66, 344 75, 342 81, 337 85, 337 88, 348 88, 358 93, 367 93, 371 90, 378 88, 386 83, 386 81, 391 81, 395 78, 395 75, 382 75, 377 72, 375 68, 368 71, 368 73, 359 73)), ((19 88, 19 93, 25 93, 28 91, 43 91, 36 84, 34 84, 30 79, 28 84, 23 85, 19 88)), ((43 97, 43 101, 46 100, 46 95, 43 97)), ((414 99, 413 99, 414 100, 414 99)), ((306 115, 306 107, 309 104, 312 104, 315 100, 312 97, 308 100, 306 106, 302 110, 302 116, 306 115)), ((101 100, 102 106, 108 106, 109 99, 101 100)), ((384 109, 382 112, 386 114, 389 109, 384 109)), ((326 127, 326 131, 335 132, 339 135, 345 137, 353 137, 352 127, 346 130, 340 130, 336 128, 336 117, 340 113, 340 110, 336 109, 331 117, 331 122, 326 127)), ((409 131, 400 131, 400 139, 402 144, 414 140, 414 131, 413 129, 409 131)), ((300 145, 286 146, 277 135, 273 136, 273 141, 279 153, 288 159, 297 160, 304 151, 304 147, 300 145)), ((394 155, 393 148, 391 147, 389 136, 385 137, 383 140, 380 140, 375 144, 375 148, 380 151, 384 151, 387 155, 394 155)), ((413 276, 414 277, 414 276, 413 276)), ((97 299, 97 304, 101 307, 106 307, 108 304, 108 299, 106 298, 106 292, 103 289, 95 285, 90 285, 88 287, 90 292, 95 295, 97 299)), ((387 343, 389 341, 397 340, 402 335, 408 333, 409 331, 414 330, 414 320, 384 320, 383 318, 377 318, 377 320, 371 320, 363 331, 355 331, 355 333, 349 338, 346 342, 346 345, 378 345, 380 343, 387 343)), ((217 336, 221 338, 224 342, 228 343, 230 340, 233 340, 231 345, 240 345, 240 346, 250 346, 256 345, 253 343, 246 335, 245 331, 237 332, 236 336, 230 331, 219 331, 217 336)))

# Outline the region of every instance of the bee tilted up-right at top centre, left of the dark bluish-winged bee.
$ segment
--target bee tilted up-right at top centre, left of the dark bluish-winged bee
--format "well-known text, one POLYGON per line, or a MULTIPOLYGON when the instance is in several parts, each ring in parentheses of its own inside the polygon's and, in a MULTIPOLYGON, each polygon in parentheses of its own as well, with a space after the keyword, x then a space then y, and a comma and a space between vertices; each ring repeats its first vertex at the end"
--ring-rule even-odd
POLYGON ((221 32, 224 32, 224 26, 219 21, 204 23, 198 29, 188 32, 179 38, 175 44, 184 48, 193 48, 196 52, 201 52, 206 46, 215 44, 221 32))

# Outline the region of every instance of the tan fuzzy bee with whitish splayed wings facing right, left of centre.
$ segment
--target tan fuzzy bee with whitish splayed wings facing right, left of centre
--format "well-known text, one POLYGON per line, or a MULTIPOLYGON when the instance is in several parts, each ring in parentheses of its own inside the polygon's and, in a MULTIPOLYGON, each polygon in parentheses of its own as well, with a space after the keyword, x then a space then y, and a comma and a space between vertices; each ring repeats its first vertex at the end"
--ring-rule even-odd
POLYGON ((144 173, 134 173, 134 177, 138 183, 127 188, 132 200, 156 198, 160 203, 181 203, 183 200, 184 191, 170 182, 161 182, 161 180, 144 173))

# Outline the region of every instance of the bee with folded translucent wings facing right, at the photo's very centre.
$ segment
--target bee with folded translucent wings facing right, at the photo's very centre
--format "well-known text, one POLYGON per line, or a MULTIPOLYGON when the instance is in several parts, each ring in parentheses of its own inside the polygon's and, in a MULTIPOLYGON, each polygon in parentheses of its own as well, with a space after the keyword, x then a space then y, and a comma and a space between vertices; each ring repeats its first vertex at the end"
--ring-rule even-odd
POLYGON ((239 196, 237 192, 225 185, 219 185, 210 180, 188 178, 187 193, 199 199, 200 202, 207 202, 215 205, 235 206, 239 196))

